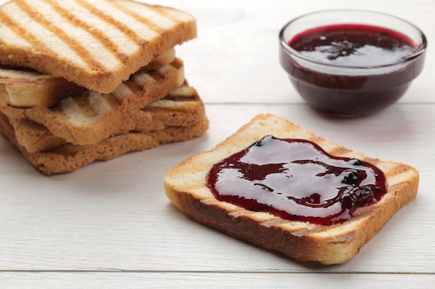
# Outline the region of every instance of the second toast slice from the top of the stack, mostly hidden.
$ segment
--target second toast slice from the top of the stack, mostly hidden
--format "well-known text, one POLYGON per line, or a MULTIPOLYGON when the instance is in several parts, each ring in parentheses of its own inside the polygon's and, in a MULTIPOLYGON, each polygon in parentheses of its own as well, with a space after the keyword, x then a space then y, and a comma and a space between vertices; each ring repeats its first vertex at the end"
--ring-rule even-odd
MULTIPOLYGON (((147 72, 170 64, 175 49, 156 56, 140 69, 147 72)), ((0 102, 13 107, 49 107, 59 100, 85 91, 65 78, 18 67, 0 67, 0 102)))

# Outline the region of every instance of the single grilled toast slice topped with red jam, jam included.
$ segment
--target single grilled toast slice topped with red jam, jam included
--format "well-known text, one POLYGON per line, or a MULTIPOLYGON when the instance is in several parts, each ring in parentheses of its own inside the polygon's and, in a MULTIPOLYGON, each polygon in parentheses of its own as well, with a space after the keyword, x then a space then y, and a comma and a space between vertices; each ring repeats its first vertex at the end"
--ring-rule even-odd
MULTIPOLYGON (((268 138, 271 139, 271 137, 268 138)), ((280 146, 281 144, 278 148, 280 146)), ((295 152, 295 155, 303 156, 304 154, 299 151, 295 152)), ((359 168, 350 168, 350 170, 360 171, 359 168)), ((199 152, 172 168, 164 177, 164 186, 167 197, 172 203, 203 225, 217 228, 229 236, 246 240, 258 247, 284 253, 299 261, 336 264, 353 259, 363 245, 372 239, 400 208, 416 198, 418 181, 418 170, 407 164, 366 157, 315 136, 286 119, 272 114, 261 114, 212 150, 199 152), (319 164, 324 163, 320 161, 321 158, 304 159, 302 157, 302 159, 290 162, 284 159, 281 161, 280 149, 270 150, 260 155, 254 154, 249 158, 244 155, 248 152, 251 154, 251 148, 254 146, 261 152, 262 146, 265 146, 264 138, 268 136, 283 141, 299 140, 302 143, 309 143, 310 146, 317 147, 325 155, 334 158, 334 161, 341 161, 352 166, 361 164, 372 166, 378 172, 375 175, 379 176, 380 183, 384 178, 384 184, 376 184, 374 190, 384 186, 385 191, 378 198, 379 200, 367 198, 370 196, 368 192, 370 186, 354 185, 355 179, 363 176, 361 178, 361 184, 363 184, 363 179, 368 179, 367 176, 370 175, 360 172, 358 176, 347 174, 343 181, 338 182, 340 188, 342 186, 345 188, 337 190, 340 191, 339 198, 333 195, 326 196, 322 200, 322 191, 326 188, 323 181, 326 182, 330 177, 341 175, 341 173, 336 173, 337 171, 344 172, 348 169, 339 170, 335 165, 323 166, 324 169, 314 175, 318 179, 311 182, 307 174, 310 175, 311 170, 319 169, 319 164), (228 163, 228 159, 233 155, 238 156, 240 160, 245 159, 247 164, 241 166, 237 162, 228 163), (229 164, 227 170, 217 173, 212 170, 217 164, 226 162, 229 164), (258 162, 261 166, 258 166, 258 162), (279 179, 279 175, 283 173, 286 173, 284 177, 287 179, 284 183, 264 182, 265 179, 279 179), (219 186, 211 184, 212 175, 217 175, 222 180, 219 186), (246 177, 247 175, 249 177, 246 177), (299 177, 296 177, 297 175, 299 177), (249 183, 247 187, 252 190, 246 189, 247 182, 249 183), (298 197, 298 190, 288 189, 293 186, 290 182, 308 184, 305 189, 308 188, 315 193, 303 198, 298 197), (322 185, 316 186, 316 182, 322 185), (215 192, 225 190, 227 190, 226 195, 231 198, 222 199, 222 194, 215 192), (245 194, 242 197, 240 197, 241 191, 245 194), (263 193, 258 195, 252 193, 253 191, 263 193), (276 205, 281 207, 279 209, 271 207, 270 198, 277 198, 277 195, 281 193, 284 193, 286 197, 282 199, 282 203, 277 202, 276 205), (247 200, 257 205, 261 204, 261 206, 252 206, 247 200), (341 203, 337 200, 341 200, 341 203), (361 200, 365 201, 361 202, 361 200), (348 218, 343 218, 344 215, 341 214, 340 218, 335 218, 335 220, 331 218, 330 222, 310 221, 310 219, 318 220, 318 216, 314 215, 323 209, 329 209, 329 206, 332 208, 338 204, 341 206, 338 207, 338 212, 340 212, 341 208, 346 207, 343 203, 350 201, 354 205, 347 211, 348 218), (302 211, 283 213, 286 211, 286 205, 282 204, 302 208, 302 211), (306 212, 308 215, 305 216, 306 212), (295 216, 306 218, 295 218, 295 216)))

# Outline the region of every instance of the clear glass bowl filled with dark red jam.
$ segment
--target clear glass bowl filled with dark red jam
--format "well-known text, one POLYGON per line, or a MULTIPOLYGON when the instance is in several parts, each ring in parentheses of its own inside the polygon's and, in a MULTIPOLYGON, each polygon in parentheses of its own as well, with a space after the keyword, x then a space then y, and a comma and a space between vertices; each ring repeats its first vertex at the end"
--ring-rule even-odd
POLYGON ((281 29, 279 42, 281 66, 306 103, 347 117, 374 114, 401 98, 422 71, 427 47, 413 24, 368 10, 302 15, 281 29))

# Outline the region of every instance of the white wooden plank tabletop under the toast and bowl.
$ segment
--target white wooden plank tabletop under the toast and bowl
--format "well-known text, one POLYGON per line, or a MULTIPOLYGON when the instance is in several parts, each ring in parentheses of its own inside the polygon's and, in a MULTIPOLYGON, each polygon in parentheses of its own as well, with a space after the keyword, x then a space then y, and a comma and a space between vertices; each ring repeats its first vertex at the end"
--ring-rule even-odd
POLYGON ((211 121, 198 139, 46 177, 0 137, 0 288, 433 288, 435 283, 435 1, 155 1, 197 17, 177 49, 211 121), (331 119, 296 94, 278 62, 286 21, 325 8, 403 17, 429 39, 425 70, 393 107, 331 119), (299 263, 193 222, 163 175, 270 112, 370 157, 420 170, 416 200, 344 265, 299 263))

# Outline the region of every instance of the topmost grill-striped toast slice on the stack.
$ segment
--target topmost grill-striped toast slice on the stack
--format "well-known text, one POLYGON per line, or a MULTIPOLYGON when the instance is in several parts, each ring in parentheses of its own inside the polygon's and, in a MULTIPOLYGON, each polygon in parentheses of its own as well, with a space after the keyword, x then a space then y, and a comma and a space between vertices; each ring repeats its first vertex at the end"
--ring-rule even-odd
POLYGON ((131 0, 11 0, 0 6, 0 63, 100 93, 196 37, 187 12, 131 0))

